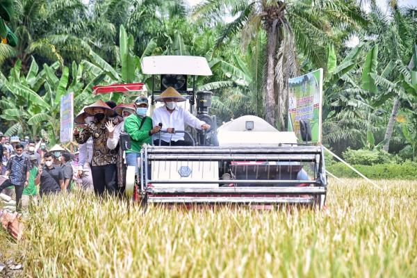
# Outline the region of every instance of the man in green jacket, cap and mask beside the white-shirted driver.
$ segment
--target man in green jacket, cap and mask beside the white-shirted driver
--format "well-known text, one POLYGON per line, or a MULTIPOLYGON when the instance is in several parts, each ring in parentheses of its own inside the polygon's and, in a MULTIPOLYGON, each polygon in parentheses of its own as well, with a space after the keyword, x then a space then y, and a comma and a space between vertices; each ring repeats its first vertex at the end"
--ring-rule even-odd
POLYGON ((131 137, 131 149, 126 151, 126 164, 138 167, 138 157, 143 144, 151 144, 152 136, 161 131, 161 127, 152 128, 152 118, 147 117, 148 99, 139 96, 135 102, 136 113, 124 120, 124 131, 131 137))

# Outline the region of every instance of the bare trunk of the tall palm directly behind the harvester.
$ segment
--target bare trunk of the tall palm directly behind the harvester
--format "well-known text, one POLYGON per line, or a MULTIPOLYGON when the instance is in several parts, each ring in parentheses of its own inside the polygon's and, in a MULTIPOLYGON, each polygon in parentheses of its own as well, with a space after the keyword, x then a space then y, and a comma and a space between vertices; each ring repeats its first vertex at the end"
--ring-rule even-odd
POLYGON ((268 43, 266 44, 266 92, 265 92, 265 120, 275 126, 275 51, 277 48, 277 34, 275 28, 278 20, 272 24, 268 24, 267 36, 268 43))

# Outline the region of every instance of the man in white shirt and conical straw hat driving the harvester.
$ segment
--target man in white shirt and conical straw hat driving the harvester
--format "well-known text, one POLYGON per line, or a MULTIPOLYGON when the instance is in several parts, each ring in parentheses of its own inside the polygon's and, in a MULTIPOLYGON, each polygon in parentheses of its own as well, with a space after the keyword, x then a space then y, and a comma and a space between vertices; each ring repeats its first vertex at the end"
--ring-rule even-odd
MULTIPOLYGON (((200 121, 186 109, 177 106, 178 101, 186 101, 186 99, 172 87, 168 87, 156 99, 163 101, 164 106, 156 108, 152 115, 153 125, 162 124, 161 146, 189 146, 191 142, 184 140, 183 133, 175 133, 175 131, 185 130, 185 124, 195 129, 210 129, 210 125, 200 121)), ((159 145, 159 138, 154 138, 154 145, 159 145)))

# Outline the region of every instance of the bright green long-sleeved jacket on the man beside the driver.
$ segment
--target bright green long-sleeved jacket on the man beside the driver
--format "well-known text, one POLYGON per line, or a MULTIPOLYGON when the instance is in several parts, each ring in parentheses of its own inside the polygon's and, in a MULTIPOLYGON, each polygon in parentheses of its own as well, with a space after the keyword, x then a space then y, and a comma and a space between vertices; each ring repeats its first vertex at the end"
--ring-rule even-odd
MULTIPOLYGON (((145 122, 142 127, 139 129, 142 118, 133 113, 129 117, 124 119, 124 131, 129 133, 131 136, 131 150, 133 152, 140 152, 142 145, 147 143, 151 144, 152 136, 149 136, 149 131, 153 128, 152 119, 150 117, 145 118, 145 122)), ((131 153, 126 151, 126 153, 131 153)))

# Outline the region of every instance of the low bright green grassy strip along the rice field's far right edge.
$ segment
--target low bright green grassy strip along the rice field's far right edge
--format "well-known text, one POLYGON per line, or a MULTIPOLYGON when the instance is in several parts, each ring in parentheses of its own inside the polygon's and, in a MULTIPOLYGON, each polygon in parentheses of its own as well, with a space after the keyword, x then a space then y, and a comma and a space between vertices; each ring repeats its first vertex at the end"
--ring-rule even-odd
MULTIPOLYGON (((353 165, 353 167, 368 179, 417 179, 417 163, 410 161, 404 163, 353 165)), ((326 170, 336 177, 359 178, 357 173, 341 162, 326 167, 326 170)))

